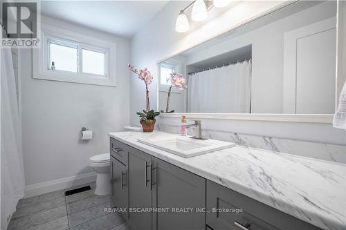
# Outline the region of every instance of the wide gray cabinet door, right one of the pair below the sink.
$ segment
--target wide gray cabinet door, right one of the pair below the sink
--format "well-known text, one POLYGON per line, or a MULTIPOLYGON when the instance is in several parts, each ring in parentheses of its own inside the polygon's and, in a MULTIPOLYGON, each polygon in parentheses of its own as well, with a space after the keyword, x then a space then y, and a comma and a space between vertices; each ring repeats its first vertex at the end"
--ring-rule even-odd
POLYGON ((153 229, 206 229, 204 178, 153 157, 152 195, 153 208, 170 208, 153 213, 153 229))

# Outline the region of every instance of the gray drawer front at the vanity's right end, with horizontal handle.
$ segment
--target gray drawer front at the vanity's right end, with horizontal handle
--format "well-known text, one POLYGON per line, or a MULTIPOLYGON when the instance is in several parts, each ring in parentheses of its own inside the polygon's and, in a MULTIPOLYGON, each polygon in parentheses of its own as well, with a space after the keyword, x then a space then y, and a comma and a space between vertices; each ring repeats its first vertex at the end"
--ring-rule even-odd
POLYGON ((207 180, 206 190, 207 210, 210 211, 206 223, 212 230, 319 229, 215 182, 207 180))

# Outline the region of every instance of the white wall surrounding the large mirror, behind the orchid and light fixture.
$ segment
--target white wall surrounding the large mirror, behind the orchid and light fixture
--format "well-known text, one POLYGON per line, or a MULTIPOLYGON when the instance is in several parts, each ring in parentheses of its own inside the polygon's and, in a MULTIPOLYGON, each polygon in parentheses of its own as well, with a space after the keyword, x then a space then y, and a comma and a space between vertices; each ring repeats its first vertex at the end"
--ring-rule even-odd
MULTIPOLYGON (((179 34, 174 30, 176 16, 179 10, 185 7, 184 1, 170 1, 145 27, 131 39, 131 62, 137 68, 147 66, 156 73, 156 61, 177 54, 186 48, 190 48, 201 41, 206 41, 221 32, 233 28, 242 21, 246 21, 270 10, 282 1, 242 1, 230 10, 211 21, 201 23, 201 26, 191 30, 187 34, 179 34), (155 38, 155 39, 153 39, 155 38)), ((131 77, 131 124, 138 124, 136 111, 145 108, 143 83, 136 77, 131 77), (143 92, 143 93, 140 93, 143 92)), ((152 108, 156 105, 156 82, 150 86, 152 108)), ((180 119, 163 119, 159 122, 173 124, 180 119)), ((304 124, 289 122, 246 122, 224 121, 206 119, 202 126, 215 130, 230 132, 278 136, 282 138, 311 140, 316 142, 329 142, 345 144, 345 132, 332 128, 331 124, 304 124)))

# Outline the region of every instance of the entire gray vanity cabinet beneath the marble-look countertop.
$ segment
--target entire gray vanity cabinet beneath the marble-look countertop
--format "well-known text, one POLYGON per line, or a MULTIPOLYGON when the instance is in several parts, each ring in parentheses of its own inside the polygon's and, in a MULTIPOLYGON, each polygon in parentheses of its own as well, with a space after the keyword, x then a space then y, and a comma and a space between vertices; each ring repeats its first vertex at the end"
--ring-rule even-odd
POLYGON ((112 138, 111 176, 131 230, 319 229, 112 138))

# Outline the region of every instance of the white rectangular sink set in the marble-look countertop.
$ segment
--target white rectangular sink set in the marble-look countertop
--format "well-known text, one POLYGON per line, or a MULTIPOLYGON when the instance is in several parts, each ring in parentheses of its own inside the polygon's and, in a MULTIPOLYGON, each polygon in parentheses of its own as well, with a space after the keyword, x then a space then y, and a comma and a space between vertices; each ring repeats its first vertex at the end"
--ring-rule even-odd
POLYGON ((221 142, 212 139, 198 140, 181 136, 138 139, 138 142, 186 158, 235 146, 232 142, 221 142))

